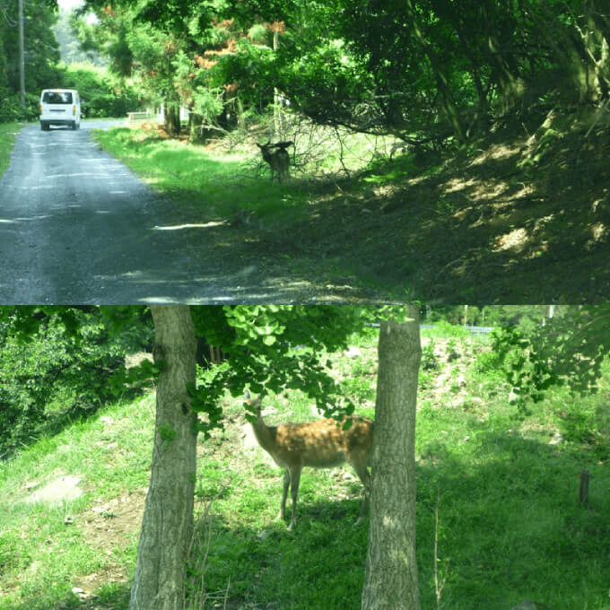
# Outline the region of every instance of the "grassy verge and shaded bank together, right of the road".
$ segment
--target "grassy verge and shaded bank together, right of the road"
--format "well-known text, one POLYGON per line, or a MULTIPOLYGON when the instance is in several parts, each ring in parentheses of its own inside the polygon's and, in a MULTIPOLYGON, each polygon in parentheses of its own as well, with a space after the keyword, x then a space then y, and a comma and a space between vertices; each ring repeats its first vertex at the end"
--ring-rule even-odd
MULTIPOLYGON (((368 284, 378 300, 593 302, 610 294, 609 125, 551 111, 461 150, 382 156, 347 178, 295 170, 281 186, 244 178, 239 164, 229 178, 217 157, 216 169, 206 165, 222 142, 193 147, 141 130, 100 142, 202 220, 226 222, 228 250, 289 266, 294 278, 368 284), (172 155, 181 171, 164 168, 172 155)), ((252 141, 250 167, 256 150, 252 141)))

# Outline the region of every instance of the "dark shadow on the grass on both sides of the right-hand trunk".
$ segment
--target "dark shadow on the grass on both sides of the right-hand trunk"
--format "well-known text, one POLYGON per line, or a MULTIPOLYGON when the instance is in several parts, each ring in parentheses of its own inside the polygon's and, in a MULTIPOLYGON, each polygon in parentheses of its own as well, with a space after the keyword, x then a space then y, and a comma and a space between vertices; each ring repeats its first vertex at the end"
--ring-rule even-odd
MULTIPOLYGON (((436 607, 439 490, 441 607, 508 610, 527 598, 554 610, 606 607, 610 557, 600 549, 610 547, 610 500, 604 495, 610 479, 602 466, 483 425, 465 442, 475 444, 469 455, 459 443, 438 443, 418 465, 422 607, 436 607), (576 502, 585 466, 596 480, 588 509, 576 502)), ((292 532, 287 521, 257 529, 215 518, 207 590, 222 591, 230 608, 360 608, 368 520, 353 527, 359 506, 301 498, 292 532)))

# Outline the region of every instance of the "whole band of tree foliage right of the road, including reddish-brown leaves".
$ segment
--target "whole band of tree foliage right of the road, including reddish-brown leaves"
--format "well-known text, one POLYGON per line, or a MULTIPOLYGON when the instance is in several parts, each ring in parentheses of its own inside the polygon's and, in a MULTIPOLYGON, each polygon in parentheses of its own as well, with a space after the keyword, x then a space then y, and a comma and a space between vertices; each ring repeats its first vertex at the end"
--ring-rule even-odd
POLYGON ((90 39, 116 68, 223 126, 228 108, 239 121, 282 94, 318 123, 463 142, 493 118, 598 104, 610 89, 602 0, 88 5, 100 17, 90 39))

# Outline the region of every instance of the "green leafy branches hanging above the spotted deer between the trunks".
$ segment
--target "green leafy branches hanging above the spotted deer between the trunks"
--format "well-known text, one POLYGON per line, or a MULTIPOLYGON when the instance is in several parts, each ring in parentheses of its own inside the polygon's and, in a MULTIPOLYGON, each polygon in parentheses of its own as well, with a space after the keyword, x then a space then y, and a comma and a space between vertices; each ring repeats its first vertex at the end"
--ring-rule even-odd
POLYGON ((257 394, 301 389, 320 412, 353 413, 324 353, 346 347, 350 335, 375 317, 375 309, 269 305, 192 308, 192 313, 197 334, 226 358, 193 388, 193 408, 207 414, 201 422, 205 435, 220 422, 218 405, 227 389, 233 396, 245 388, 257 394))

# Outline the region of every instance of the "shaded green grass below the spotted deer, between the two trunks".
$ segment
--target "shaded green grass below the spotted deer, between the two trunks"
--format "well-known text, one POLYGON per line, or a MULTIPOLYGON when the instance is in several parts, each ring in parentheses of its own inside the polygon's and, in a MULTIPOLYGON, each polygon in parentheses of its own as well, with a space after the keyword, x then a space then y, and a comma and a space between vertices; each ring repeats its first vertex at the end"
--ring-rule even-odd
POLYGON ((302 501, 292 532, 287 521, 258 530, 215 517, 206 590, 222 591, 230 608, 360 607, 368 528, 353 527, 359 510, 360 501, 302 501))

